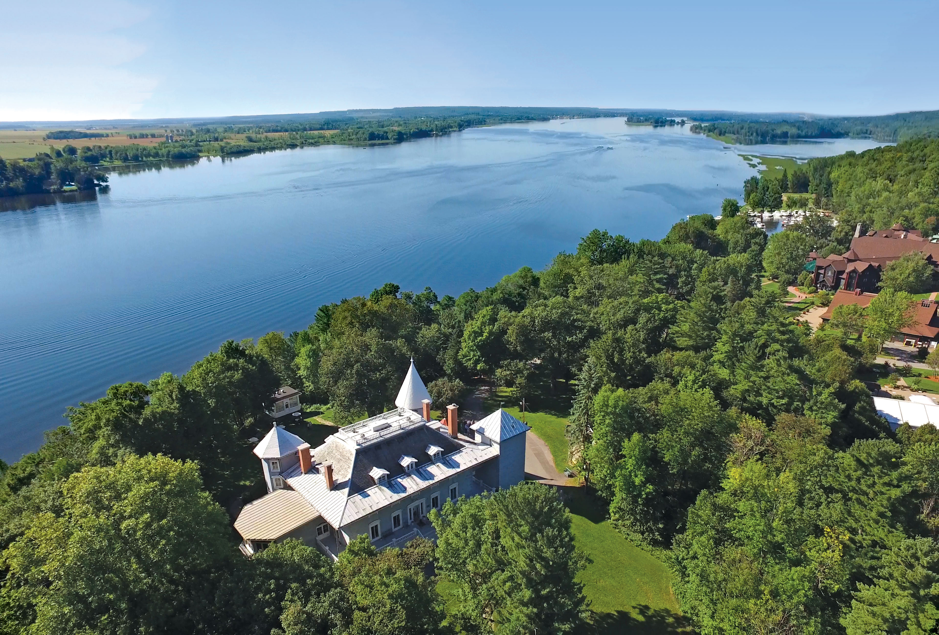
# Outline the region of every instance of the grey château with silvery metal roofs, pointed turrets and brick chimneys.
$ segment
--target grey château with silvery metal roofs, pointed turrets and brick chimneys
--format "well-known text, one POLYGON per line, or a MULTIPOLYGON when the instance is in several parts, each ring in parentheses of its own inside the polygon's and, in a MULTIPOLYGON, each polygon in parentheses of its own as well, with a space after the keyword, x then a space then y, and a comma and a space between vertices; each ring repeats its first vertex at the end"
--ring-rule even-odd
POLYGON ((430 395, 411 361, 394 404, 375 417, 341 427, 311 448, 274 426, 254 448, 268 485, 235 521, 241 550, 301 538, 335 558, 367 534, 377 548, 436 534, 427 521, 446 499, 509 488, 525 479, 529 426, 496 410, 458 430, 456 406, 430 417, 430 395))

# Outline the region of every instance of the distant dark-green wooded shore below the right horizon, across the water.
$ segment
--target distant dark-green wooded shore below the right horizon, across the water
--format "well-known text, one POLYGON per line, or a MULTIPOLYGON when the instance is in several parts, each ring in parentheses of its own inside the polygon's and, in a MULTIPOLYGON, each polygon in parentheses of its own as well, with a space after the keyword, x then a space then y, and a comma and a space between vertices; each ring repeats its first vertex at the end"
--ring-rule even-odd
POLYGON ((733 143, 747 145, 839 137, 870 138, 895 143, 914 137, 939 135, 939 111, 772 122, 735 118, 715 123, 696 123, 690 130, 730 137, 733 143))

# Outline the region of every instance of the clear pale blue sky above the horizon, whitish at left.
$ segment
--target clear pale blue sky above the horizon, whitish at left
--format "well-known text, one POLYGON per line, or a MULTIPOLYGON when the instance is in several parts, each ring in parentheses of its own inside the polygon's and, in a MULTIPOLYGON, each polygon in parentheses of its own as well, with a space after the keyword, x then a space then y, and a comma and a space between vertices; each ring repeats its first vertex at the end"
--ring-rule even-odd
POLYGON ((0 120, 939 109, 939 2, 0 0, 0 120))

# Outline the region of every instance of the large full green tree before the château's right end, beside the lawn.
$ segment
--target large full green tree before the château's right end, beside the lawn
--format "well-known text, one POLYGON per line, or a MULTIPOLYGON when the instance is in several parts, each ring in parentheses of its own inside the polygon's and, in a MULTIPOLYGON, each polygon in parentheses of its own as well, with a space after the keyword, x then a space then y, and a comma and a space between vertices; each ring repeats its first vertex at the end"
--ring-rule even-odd
POLYGON ((430 519, 439 536, 437 570, 456 583, 464 630, 575 633, 587 600, 577 573, 570 513, 553 488, 522 483, 448 501, 430 519))

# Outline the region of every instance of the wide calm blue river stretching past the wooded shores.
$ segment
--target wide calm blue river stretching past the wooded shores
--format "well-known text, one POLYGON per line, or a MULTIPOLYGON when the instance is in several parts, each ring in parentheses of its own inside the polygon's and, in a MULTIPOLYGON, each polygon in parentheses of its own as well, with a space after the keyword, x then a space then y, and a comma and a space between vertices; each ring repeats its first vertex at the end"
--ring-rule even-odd
MULTIPOLYGON (((0 212, 0 457, 117 382, 185 372, 225 339, 306 327, 395 282, 439 295, 544 267, 594 227, 659 239, 755 174, 687 129, 576 119, 393 147, 311 147, 115 174, 85 202, 0 212)), ((9 205, 9 202, 8 202, 9 205)))

